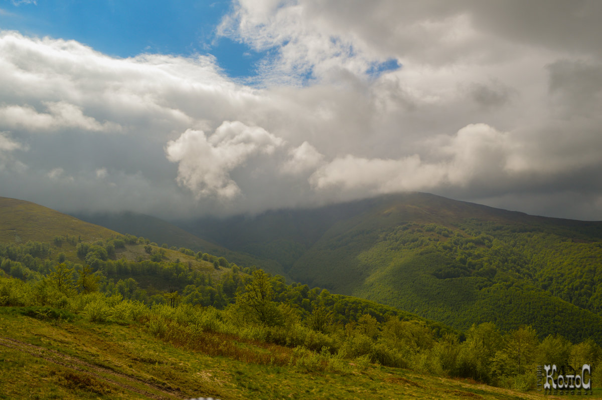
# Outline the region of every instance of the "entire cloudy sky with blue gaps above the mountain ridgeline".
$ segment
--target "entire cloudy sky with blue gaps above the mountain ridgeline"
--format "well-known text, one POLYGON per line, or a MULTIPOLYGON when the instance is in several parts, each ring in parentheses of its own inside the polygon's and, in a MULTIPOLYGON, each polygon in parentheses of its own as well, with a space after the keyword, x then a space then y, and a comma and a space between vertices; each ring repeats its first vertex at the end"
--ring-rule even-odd
POLYGON ((597 0, 0 0, 0 196, 602 220, 597 0))

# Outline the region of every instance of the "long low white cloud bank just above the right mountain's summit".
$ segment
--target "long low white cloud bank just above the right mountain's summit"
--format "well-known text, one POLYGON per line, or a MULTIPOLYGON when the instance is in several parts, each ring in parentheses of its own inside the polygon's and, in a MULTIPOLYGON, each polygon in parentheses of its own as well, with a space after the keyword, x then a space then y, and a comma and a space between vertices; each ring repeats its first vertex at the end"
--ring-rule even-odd
POLYGON ((418 154, 399 159, 347 155, 319 168, 309 180, 318 190, 338 187, 380 194, 468 186, 474 180, 506 173, 511 151, 507 134, 488 125, 465 126, 454 137, 439 137, 432 144, 439 149, 441 161, 425 162, 418 154))

